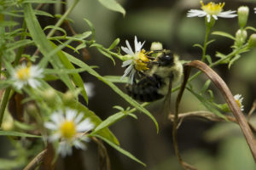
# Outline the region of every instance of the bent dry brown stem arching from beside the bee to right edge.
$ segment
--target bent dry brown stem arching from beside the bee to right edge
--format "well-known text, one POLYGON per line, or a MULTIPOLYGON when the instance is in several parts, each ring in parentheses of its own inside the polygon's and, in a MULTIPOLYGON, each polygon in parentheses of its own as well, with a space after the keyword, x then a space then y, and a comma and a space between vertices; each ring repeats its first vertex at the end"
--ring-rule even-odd
POLYGON ((228 88, 226 83, 223 81, 223 79, 219 77, 218 74, 215 71, 213 71, 207 64, 199 60, 191 61, 190 63, 184 65, 184 80, 183 80, 182 88, 180 88, 179 94, 177 96, 176 114, 174 116, 174 122, 177 122, 178 120, 177 119, 178 105, 182 98, 186 83, 189 79, 189 73, 190 73, 191 67, 195 67, 203 71, 207 75, 207 77, 209 77, 212 80, 212 82, 216 85, 216 87, 220 90, 220 92, 223 94, 226 103, 230 107, 230 111, 233 112, 234 116, 236 117, 236 121, 241 127, 241 131, 247 140, 247 144, 249 145, 254 161, 256 162, 256 141, 253 137, 253 132, 249 127, 245 116, 242 114, 240 107, 237 105, 236 100, 234 99, 234 96, 231 94, 230 89, 228 88))

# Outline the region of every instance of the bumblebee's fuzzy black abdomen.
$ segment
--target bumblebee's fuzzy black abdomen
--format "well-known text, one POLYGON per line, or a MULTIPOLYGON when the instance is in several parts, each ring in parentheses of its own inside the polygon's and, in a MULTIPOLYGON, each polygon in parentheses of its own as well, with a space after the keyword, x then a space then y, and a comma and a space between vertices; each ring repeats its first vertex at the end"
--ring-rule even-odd
POLYGON ((128 84, 126 86, 127 94, 133 99, 143 102, 163 98, 164 96, 158 93, 162 82, 156 79, 157 77, 144 77, 140 82, 137 82, 137 84, 128 84))

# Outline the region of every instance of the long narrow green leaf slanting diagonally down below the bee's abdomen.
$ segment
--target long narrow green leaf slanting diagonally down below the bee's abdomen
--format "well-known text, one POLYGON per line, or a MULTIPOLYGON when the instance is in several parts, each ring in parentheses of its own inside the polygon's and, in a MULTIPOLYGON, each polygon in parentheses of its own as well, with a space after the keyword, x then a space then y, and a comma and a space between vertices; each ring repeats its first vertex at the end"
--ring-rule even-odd
POLYGON ((152 121, 154 122, 154 125, 156 127, 157 133, 159 132, 159 126, 156 120, 154 119, 154 116, 151 115, 149 111, 147 111, 142 105, 138 104, 136 100, 132 99, 129 95, 125 94, 122 90, 120 90, 118 87, 116 87, 113 82, 109 82, 106 78, 100 76, 96 71, 94 71, 92 68, 90 68, 89 65, 86 65, 84 62, 82 62, 79 59, 74 58, 72 55, 65 53, 67 56, 67 59, 69 59, 73 64, 79 65, 81 68, 87 68, 87 71, 90 75, 97 77, 102 82, 105 82, 110 88, 113 89, 113 91, 117 94, 119 94, 123 99, 125 99, 128 103, 133 105, 137 108, 138 111, 142 111, 144 114, 149 116, 152 121))

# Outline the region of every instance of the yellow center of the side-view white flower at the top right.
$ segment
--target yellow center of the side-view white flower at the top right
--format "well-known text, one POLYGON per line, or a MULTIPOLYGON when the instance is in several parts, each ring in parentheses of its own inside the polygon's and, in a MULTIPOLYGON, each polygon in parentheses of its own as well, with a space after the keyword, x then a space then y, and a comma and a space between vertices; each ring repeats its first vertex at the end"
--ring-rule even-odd
POLYGON ((206 5, 201 1, 201 9, 203 9, 207 14, 219 14, 225 3, 207 3, 206 5))

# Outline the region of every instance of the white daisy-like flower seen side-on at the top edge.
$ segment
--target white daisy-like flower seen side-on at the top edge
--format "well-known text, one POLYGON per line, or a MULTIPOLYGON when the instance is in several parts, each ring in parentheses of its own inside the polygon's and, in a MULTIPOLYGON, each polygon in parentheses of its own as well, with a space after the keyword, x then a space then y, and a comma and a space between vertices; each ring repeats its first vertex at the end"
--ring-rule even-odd
POLYGON ((224 11, 223 7, 225 3, 207 3, 206 5, 201 1, 201 9, 190 9, 189 13, 187 14, 188 17, 204 17, 207 16, 207 22, 211 21, 211 18, 214 20, 218 20, 218 17, 222 18, 234 18, 237 16, 236 11, 224 11))

